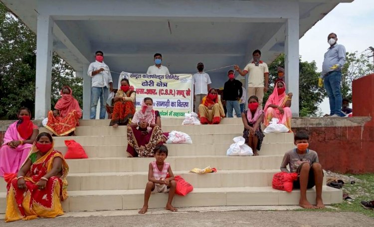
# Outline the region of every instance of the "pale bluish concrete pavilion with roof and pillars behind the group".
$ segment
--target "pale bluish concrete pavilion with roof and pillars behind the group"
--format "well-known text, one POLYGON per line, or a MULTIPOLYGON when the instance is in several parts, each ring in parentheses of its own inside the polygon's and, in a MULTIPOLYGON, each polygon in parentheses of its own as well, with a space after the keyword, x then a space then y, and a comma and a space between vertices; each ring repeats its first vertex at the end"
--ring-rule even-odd
MULTIPOLYGON (((112 71, 145 73, 163 54, 171 73, 238 64, 260 49, 271 63, 286 53, 286 83, 299 114, 299 38, 340 2, 353 0, 1 0, 37 35, 35 119, 50 109, 52 50, 83 77, 89 118, 87 68, 102 50, 112 71)), ((326 38, 327 34, 316 34, 326 38)), ((228 68, 210 72, 221 87, 228 68)), ((117 73, 112 73, 114 87, 117 73)))

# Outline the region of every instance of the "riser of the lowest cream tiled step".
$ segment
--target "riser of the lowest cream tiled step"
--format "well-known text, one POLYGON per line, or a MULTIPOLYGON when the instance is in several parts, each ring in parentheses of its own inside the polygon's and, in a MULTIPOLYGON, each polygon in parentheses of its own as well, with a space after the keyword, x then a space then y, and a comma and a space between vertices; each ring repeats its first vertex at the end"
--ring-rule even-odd
MULTIPOLYGON (((69 191, 68 199, 62 203, 65 212, 132 210, 143 207, 144 189, 134 190, 98 190, 69 191)), ((271 187, 237 187, 237 188, 194 188, 187 196, 176 195, 175 207, 210 207, 210 206, 266 206, 298 205, 300 191, 291 193, 272 189, 271 187)), ((315 188, 307 191, 307 199, 315 204, 315 188)), ((324 204, 342 203, 343 191, 324 186, 322 198, 324 204)), ((149 208, 164 208, 168 194, 152 195, 149 208)), ((0 193, 0 213, 5 213, 6 193, 0 193)))

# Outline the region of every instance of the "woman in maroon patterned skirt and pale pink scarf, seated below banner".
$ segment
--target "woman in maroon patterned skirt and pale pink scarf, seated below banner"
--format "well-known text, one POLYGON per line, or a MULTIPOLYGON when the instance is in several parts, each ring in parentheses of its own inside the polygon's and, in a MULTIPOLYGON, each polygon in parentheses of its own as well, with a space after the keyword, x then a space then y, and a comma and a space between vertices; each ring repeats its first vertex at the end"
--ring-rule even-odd
POLYGON ((127 157, 153 157, 155 147, 165 143, 168 135, 161 130, 160 113, 153 110, 153 100, 145 98, 127 128, 127 157))

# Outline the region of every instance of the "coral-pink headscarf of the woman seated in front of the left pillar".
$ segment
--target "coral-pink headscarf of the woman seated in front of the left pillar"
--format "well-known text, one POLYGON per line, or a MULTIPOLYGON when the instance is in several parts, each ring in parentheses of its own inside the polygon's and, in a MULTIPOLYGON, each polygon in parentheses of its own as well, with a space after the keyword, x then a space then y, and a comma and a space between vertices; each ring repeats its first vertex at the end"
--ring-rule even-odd
POLYGON ((82 116, 82 110, 79 107, 78 101, 73 97, 73 91, 69 86, 63 86, 60 95, 62 96, 54 106, 56 110, 59 110, 60 117, 64 118, 69 113, 71 113, 73 110, 76 110, 78 113, 78 117, 81 118, 82 116), (67 88, 69 90, 69 94, 64 94, 62 91, 67 88))

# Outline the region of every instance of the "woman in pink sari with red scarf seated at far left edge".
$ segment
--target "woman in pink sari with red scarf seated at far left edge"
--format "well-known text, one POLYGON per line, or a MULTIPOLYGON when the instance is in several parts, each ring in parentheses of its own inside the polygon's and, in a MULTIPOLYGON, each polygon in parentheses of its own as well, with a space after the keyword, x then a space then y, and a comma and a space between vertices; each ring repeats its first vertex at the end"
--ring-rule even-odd
POLYGON ((18 110, 18 121, 9 125, 0 148, 0 177, 6 173, 17 173, 34 143, 39 129, 30 118, 31 112, 26 107, 18 110))

